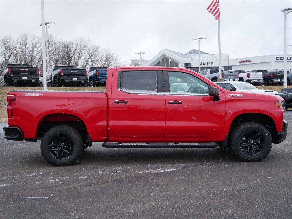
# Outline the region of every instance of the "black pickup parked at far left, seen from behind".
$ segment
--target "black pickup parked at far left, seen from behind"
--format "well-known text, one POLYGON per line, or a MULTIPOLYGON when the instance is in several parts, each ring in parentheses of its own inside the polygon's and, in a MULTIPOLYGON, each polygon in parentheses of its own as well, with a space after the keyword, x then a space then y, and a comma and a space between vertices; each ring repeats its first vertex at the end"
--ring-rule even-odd
POLYGON ((39 69, 29 64, 8 63, 0 75, 0 86, 39 86, 39 69))

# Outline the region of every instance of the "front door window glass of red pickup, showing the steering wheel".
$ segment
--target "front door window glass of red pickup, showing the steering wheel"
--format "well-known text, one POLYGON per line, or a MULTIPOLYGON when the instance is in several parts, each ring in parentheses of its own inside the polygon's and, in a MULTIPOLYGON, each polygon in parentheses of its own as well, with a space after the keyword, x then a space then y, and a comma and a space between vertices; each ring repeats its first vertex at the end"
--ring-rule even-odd
POLYGON ((192 74, 168 72, 171 93, 208 94, 208 84, 192 74), (177 85, 176 87, 174 85, 177 85))

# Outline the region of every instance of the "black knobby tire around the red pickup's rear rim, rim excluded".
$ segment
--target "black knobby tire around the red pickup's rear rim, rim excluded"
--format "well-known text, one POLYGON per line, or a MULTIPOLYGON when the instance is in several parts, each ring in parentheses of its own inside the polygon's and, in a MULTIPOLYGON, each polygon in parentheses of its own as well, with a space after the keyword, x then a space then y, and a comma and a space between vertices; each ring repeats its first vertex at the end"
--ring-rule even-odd
POLYGON ((79 159, 83 151, 83 146, 83 139, 75 128, 65 125, 55 126, 44 134, 43 139, 41 140, 41 154, 46 161, 48 161, 50 164, 53 164, 54 166, 69 166, 74 164, 79 159), (56 134, 65 134, 72 139, 74 144, 74 151, 70 157, 66 159, 56 159, 50 154, 48 150, 48 145, 50 143, 49 140, 56 134))

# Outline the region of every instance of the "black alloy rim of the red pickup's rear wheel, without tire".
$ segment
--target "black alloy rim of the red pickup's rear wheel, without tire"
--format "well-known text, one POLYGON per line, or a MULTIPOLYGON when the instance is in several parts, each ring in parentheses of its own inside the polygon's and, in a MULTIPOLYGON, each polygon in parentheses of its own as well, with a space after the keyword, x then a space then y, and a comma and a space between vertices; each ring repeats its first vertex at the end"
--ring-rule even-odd
POLYGON ((48 145, 48 150, 56 159, 67 159, 74 152, 72 138, 66 134, 54 135, 49 142, 51 142, 51 144, 48 145))

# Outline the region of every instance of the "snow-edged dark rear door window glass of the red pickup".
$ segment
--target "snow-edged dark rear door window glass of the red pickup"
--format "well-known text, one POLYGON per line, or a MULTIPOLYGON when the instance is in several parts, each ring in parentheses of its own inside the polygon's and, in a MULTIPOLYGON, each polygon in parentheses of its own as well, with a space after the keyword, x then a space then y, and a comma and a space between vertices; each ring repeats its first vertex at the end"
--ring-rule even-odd
POLYGON ((122 90, 131 93, 157 93, 157 72, 156 71, 123 72, 122 90))

